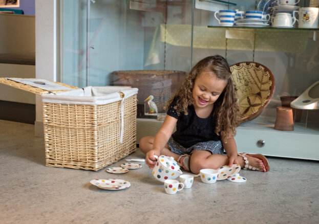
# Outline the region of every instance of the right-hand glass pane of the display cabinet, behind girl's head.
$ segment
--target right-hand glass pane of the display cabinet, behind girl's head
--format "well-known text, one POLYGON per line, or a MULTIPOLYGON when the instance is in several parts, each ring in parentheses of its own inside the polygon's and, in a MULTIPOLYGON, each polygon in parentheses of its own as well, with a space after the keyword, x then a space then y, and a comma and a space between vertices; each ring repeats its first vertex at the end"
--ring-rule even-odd
MULTIPOLYGON (((297 23, 292 29, 221 27, 214 16, 216 11, 256 10, 263 8, 267 1, 258 1, 260 5, 255 1, 231 1, 236 6, 209 2, 210 8, 196 6, 195 9, 193 65, 203 57, 220 54, 230 65, 248 61, 266 66, 274 76, 273 97, 256 119, 241 127, 277 131, 274 130, 277 107, 290 107, 293 99, 319 80, 318 29, 299 29, 297 23)), ((306 4, 307 1, 301 1, 299 6, 306 4)), ((265 11, 269 10, 265 7, 265 11)), ((292 108, 292 111, 295 133, 319 135, 318 109, 292 108)))

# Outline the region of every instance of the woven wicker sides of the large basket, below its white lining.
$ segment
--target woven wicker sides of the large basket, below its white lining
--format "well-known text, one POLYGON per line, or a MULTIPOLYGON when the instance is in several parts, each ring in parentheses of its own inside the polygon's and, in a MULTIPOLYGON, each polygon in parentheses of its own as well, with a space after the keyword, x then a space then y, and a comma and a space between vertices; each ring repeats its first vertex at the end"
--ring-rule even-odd
POLYGON ((99 170, 136 150, 136 95, 105 105, 43 103, 46 165, 99 170))

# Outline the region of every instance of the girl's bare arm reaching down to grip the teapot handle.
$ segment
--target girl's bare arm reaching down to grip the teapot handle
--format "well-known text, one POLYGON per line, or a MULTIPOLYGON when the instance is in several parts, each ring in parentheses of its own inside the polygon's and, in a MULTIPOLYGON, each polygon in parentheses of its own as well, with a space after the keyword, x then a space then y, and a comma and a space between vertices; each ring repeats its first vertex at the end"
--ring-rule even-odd
POLYGON ((146 153, 147 165, 151 167, 155 166, 154 161, 156 161, 156 158, 154 157, 154 155, 157 155, 157 156, 160 155, 161 150, 165 147, 169 138, 171 138, 174 128, 176 126, 176 123, 177 123, 176 118, 166 115, 161 128, 159 129, 159 131, 157 132, 155 136, 153 149, 146 153))

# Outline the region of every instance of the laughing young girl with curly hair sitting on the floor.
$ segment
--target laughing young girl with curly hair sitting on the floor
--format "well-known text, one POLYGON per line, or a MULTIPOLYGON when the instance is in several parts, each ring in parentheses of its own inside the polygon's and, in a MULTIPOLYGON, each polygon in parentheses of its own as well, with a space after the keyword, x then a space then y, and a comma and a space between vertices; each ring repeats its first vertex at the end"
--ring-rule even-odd
POLYGON ((148 167, 154 168, 154 155, 167 155, 196 174, 201 169, 232 164, 269 170, 265 156, 237 153, 233 137, 240 124, 239 109, 230 76, 229 65, 220 55, 206 57, 194 66, 168 101, 167 116, 156 136, 144 137, 139 142, 148 167))

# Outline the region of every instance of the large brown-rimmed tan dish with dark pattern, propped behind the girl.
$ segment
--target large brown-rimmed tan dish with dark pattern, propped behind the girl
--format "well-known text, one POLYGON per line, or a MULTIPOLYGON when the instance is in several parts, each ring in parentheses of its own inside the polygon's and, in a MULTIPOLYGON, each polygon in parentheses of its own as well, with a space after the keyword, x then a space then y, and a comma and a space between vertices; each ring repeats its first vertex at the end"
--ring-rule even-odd
POLYGON ((242 123, 257 118, 273 96, 275 82, 270 70, 256 62, 240 62, 230 66, 242 123))

